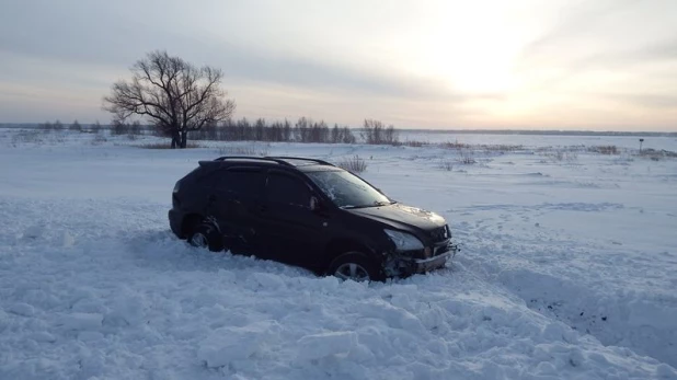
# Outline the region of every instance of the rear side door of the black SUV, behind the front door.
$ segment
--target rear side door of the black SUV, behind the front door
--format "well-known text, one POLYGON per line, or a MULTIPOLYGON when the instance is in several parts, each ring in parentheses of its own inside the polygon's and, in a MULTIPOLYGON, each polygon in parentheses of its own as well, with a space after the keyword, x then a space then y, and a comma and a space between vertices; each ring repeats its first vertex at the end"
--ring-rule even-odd
POLYGON ((233 253, 262 255, 261 206, 265 173, 260 168, 233 166, 217 173, 210 204, 223 244, 233 253))

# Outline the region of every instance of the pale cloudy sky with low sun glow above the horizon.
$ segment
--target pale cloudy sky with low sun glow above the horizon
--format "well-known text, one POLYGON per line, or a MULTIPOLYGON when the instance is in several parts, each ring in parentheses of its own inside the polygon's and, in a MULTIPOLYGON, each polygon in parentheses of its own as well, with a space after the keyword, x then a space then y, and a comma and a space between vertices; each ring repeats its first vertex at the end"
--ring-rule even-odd
POLYGON ((220 68, 237 118, 677 130, 676 0, 0 2, 0 123, 107 123, 159 49, 220 68))

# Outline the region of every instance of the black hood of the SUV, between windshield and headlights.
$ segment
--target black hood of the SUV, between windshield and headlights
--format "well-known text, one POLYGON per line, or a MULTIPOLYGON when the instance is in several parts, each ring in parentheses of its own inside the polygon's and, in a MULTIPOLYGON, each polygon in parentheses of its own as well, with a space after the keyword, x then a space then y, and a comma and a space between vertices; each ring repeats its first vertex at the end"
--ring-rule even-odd
POLYGON ((424 235, 426 234, 425 231, 446 224, 445 218, 435 212, 401 204, 354 208, 347 211, 353 215, 380 221, 399 230, 414 230, 424 235))

